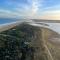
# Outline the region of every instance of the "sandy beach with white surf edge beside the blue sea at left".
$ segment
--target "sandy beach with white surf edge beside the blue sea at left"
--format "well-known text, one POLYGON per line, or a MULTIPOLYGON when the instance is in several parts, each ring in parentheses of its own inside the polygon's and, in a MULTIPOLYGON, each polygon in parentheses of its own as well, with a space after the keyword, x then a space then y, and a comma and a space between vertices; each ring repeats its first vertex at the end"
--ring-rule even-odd
POLYGON ((17 26, 17 25, 19 25, 22 22, 23 21, 16 21, 16 22, 12 22, 12 23, 1 24, 0 25, 0 32, 8 30, 8 29, 11 29, 14 26, 17 26))

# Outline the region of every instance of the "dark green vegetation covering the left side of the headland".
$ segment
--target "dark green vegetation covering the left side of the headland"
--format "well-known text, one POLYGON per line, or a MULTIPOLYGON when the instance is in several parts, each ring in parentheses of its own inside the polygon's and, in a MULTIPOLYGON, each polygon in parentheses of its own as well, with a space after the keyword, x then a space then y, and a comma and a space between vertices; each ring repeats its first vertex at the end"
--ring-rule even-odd
POLYGON ((21 24, 1 32, 0 60, 33 60, 34 47, 30 43, 37 29, 28 24, 21 24))

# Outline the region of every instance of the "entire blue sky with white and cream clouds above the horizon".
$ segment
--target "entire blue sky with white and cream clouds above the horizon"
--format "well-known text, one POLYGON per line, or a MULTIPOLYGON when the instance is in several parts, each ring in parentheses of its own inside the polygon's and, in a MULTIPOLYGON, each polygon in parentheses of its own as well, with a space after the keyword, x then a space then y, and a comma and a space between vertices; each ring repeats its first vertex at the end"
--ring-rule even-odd
POLYGON ((60 20, 60 0, 0 0, 0 18, 60 20))

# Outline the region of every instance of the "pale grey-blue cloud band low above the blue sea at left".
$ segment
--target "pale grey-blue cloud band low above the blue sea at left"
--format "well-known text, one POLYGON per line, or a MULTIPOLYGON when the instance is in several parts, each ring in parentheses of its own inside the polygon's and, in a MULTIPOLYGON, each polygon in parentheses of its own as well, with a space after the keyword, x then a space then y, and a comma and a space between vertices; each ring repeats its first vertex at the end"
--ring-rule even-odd
POLYGON ((0 18, 27 18, 30 17, 29 10, 16 9, 15 11, 0 9, 0 18))

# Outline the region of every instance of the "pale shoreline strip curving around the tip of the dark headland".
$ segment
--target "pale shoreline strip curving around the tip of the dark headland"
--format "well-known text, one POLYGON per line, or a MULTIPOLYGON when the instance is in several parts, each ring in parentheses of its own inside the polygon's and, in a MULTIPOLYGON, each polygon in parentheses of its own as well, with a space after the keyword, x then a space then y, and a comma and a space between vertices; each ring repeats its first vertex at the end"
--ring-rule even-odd
POLYGON ((37 24, 36 22, 33 22, 33 21, 25 21, 25 20, 23 20, 23 21, 15 21, 15 22, 6 23, 6 24, 1 24, 0 25, 0 32, 5 31, 5 30, 8 30, 8 29, 11 29, 14 26, 17 26, 17 25, 19 25, 19 24, 21 24, 23 22, 26 22, 27 24, 32 25, 32 26, 48 28, 48 29, 53 30, 56 33, 60 34, 60 31, 56 30, 56 28, 58 28, 58 27, 56 27, 55 24, 53 24, 53 25, 52 24, 50 24, 50 25, 48 24, 49 26, 43 26, 41 24, 37 24))

